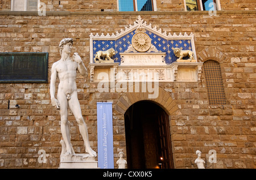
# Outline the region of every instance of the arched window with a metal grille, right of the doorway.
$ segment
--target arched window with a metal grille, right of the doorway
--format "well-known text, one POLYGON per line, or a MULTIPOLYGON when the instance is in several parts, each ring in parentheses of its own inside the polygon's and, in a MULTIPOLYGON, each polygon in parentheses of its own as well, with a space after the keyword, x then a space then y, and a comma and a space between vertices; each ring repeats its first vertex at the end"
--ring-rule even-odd
POLYGON ((205 61, 203 71, 205 75, 205 82, 207 84, 209 105, 226 104, 220 64, 213 60, 205 61))

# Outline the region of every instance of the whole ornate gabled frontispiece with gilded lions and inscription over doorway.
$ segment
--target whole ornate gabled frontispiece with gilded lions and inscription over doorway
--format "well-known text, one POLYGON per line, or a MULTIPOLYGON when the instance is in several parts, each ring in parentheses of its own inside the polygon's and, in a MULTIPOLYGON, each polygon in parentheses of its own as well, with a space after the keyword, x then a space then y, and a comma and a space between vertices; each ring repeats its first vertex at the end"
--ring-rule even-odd
POLYGON ((200 81, 194 35, 162 32, 138 16, 133 25, 110 35, 90 34, 90 81, 139 81, 149 75, 159 82, 200 81), (158 75, 156 75, 158 74, 158 75))

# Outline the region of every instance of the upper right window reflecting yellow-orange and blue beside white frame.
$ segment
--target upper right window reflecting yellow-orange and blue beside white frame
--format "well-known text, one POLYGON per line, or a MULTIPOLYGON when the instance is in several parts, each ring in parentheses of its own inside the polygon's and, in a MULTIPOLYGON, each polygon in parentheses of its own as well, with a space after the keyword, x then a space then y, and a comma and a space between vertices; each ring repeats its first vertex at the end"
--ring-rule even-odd
POLYGON ((217 11, 221 10, 219 0, 185 0, 187 11, 217 11))

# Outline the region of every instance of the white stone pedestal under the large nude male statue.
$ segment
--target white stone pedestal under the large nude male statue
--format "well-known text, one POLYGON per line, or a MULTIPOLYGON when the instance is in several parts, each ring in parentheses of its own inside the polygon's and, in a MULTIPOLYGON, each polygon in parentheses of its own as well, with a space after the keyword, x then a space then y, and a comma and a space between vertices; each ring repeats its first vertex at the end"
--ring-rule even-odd
POLYGON ((96 169, 98 161, 89 154, 60 155, 59 169, 96 169))

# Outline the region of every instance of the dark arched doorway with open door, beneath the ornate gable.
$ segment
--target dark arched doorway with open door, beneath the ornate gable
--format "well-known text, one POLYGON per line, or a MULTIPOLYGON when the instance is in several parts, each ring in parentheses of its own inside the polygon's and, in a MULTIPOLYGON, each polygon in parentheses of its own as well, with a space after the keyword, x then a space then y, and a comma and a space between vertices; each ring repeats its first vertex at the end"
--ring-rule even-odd
POLYGON ((174 168, 168 114, 152 101, 125 113, 127 168, 174 168))

